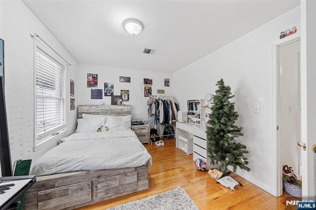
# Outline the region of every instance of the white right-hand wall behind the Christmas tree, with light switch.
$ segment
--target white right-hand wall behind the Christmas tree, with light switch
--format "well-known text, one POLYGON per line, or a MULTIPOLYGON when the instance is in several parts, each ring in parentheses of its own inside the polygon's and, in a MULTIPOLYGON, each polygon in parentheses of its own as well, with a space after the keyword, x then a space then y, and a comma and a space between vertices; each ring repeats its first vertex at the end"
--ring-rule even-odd
MULTIPOLYGON (((251 171, 237 170, 237 174, 270 192, 272 166, 271 140, 273 112, 272 98, 272 44, 279 42, 280 32, 297 27, 300 35, 300 7, 283 14, 262 27, 206 55, 187 67, 173 73, 173 94, 180 109, 186 109, 188 99, 204 98, 214 93, 216 82, 224 79, 235 95, 238 126, 244 136, 237 140, 247 145, 251 171), (185 94, 183 94, 183 90, 185 94), (253 106, 260 105, 260 113, 253 106)), ((234 33, 234 32, 232 32, 234 33)), ((283 38, 284 41, 290 37, 283 38)))

